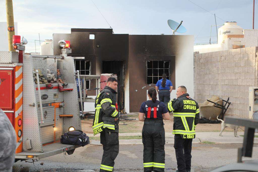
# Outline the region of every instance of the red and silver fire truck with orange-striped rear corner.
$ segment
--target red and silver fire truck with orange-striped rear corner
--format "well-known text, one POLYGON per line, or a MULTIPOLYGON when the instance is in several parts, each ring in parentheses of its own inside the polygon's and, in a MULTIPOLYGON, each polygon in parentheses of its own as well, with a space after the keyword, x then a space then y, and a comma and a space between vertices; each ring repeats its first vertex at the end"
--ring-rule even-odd
POLYGON ((67 57, 69 43, 61 40, 62 54, 52 56, 25 55, 26 43, 14 35, 13 48, 18 51, 0 52, 0 108, 17 135, 15 162, 72 154, 78 145, 60 143, 63 133, 81 130, 74 59, 67 57), (50 71, 56 79, 52 82, 47 81, 50 71))

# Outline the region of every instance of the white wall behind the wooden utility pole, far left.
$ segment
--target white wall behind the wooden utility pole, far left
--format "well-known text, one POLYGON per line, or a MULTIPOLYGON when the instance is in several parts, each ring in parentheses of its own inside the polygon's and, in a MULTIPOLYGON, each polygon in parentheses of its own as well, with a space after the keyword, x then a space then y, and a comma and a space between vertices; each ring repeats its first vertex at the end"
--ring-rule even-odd
MULTIPOLYGON (((18 35, 18 24, 14 22, 14 32, 18 35)), ((0 22, 0 51, 9 51, 7 22, 0 22)))

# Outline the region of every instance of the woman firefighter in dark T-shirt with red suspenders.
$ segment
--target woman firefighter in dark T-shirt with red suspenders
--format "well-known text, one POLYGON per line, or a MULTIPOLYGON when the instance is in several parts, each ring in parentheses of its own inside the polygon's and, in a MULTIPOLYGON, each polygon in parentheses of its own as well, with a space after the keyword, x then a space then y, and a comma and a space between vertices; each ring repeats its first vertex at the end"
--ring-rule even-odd
POLYGON ((140 107, 139 121, 144 121, 142 128, 143 168, 144 171, 164 171, 165 169, 165 130, 164 120, 170 115, 166 105, 157 100, 155 88, 148 90, 149 99, 140 107), (144 117, 145 114, 145 117, 144 117))

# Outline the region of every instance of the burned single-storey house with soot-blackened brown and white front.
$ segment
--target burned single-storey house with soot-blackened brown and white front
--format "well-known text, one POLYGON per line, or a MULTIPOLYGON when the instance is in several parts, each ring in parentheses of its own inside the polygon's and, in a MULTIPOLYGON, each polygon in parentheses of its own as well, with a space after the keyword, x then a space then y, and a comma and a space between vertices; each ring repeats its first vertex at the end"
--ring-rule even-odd
MULTIPOLYGON (((114 73, 118 76, 118 105, 126 112, 138 112, 147 91, 155 87, 162 74, 176 88, 185 85, 193 96, 192 35, 129 35, 114 34, 112 29, 71 29, 71 34, 53 34, 53 54, 60 54, 59 40, 69 40, 70 56, 81 75, 114 73)), ((95 98, 96 81, 86 81, 95 98)), ((93 108, 94 109, 94 108, 93 108)))

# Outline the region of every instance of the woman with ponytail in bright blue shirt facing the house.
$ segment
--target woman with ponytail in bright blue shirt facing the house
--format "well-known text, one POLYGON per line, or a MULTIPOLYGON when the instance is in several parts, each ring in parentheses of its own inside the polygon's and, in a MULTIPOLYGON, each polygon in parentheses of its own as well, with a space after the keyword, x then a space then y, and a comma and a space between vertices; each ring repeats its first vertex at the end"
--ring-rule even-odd
POLYGON ((159 100, 167 104, 170 101, 170 93, 172 92, 173 85, 167 79, 167 75, 163 73, 162 79, 158 80, 156 90, 159 93, 159 100))

